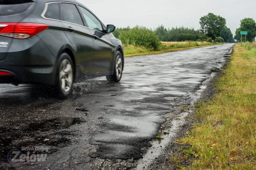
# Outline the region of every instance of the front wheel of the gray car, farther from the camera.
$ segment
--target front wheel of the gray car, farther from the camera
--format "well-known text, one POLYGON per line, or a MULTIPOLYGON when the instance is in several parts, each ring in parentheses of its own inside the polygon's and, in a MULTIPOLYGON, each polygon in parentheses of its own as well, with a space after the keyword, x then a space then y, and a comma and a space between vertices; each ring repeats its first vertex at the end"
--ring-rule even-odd
POLYGON ((106 76, 109 82, 119 82, 123 74, 123 57, 122 54, 117 51, 114 63, 114 74, 106 76))

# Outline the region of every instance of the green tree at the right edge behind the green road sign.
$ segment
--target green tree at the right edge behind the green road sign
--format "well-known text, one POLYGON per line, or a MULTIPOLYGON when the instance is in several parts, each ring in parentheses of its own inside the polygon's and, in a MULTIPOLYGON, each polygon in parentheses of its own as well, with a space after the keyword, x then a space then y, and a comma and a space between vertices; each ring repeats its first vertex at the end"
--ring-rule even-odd
MULTIPOLYGON (((246 40, 248 40, 249 42, 255 41, 256 23, 252 18, 244 18, 241 20, 240 28, 236 30, 235 39, 237 40, 241 39, 241 35, 240 35, 241 31, 247 31, 246 40)), ((242 41, 244 40, 245 40, 245 36, 243 36, 242 41)))

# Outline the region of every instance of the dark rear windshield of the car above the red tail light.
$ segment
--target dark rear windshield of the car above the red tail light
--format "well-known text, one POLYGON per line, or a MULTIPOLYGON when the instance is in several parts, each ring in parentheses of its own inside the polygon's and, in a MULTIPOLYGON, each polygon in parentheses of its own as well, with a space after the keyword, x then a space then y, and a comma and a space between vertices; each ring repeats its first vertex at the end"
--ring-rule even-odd
POLYGON ((22 13, 32 3, 31 0, 0 0, 0 17, 22 13))

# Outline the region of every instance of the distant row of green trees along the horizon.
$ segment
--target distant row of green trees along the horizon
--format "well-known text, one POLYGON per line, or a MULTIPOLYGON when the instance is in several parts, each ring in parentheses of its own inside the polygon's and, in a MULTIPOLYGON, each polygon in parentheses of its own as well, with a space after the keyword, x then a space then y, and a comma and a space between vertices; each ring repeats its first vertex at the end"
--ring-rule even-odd
MULTIPOLYGON (((256 23, 252 18, 244 18, 241 20, 240 28, 237 29, 236 35, 233 34, 229 28, 226 26, 226 19, 209 13, 200 18, 200 29, 195 30, 194 28, 165 28, 163 25, 159 26, 155 30, 151 30, 161 41, 210 41, 218 40, 223 38, 225 43, 234 43, 234 39, 241 39, 240 31, 247 31, 247 40, 252 42, 255 40, 256 36, 256 23)), ((114 36, 119 38, 120 33, 129 32, 130 27, 127 28, 117 28, 114 31, 114 36)), ((131 33, 131 32, 130 32, 131 33)), ((124 33, 125 34, 125 33, 124 33)), ((127 34, 128 36, 128 34, 127 34)), ((243 37, 244 40, 245 37, 243 37)))

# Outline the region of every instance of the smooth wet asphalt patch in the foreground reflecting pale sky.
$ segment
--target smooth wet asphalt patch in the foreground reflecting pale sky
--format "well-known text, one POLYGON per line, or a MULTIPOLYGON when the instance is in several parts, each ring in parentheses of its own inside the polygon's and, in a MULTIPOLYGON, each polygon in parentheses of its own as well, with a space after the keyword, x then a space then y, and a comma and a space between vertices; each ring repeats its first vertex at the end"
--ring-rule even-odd
MULTIPOLYGON (((102 132, 94 135, 92 138, 99 145, 97 155, 110 159, 115 159, 115 156, 118 156, 119 159, 122 159, 126 157, 127 153, 141 152, 138 150, 138 147, 145 145, 143 141, 150 140, 149 137, 154 135, 160 124, 165 121, 164 118, 154 112, 144 114, 143 117, 127 115, 108 116, 110 118, 108 122, 99 124, 102 132), (116 147, 118 145, 120 147, 117 151, 116 147)), ((138 153, 133 155, 140 157, 138 153)))

